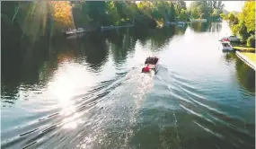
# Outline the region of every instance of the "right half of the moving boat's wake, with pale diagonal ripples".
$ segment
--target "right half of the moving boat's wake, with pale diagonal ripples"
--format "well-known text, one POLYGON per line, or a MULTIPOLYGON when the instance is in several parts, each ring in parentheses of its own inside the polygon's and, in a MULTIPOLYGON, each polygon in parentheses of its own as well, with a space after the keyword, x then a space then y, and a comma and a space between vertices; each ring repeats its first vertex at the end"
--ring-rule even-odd
POLYGON ((245 119, 230 115, 226 111, 238 110, 237 108, 220 104, 217 100, 209 100, 203 93, 204 89, 194 85, 180 74, 167 72, 166 69, 161 69, 157 73, 155 84, 158 85, 154 88, 158 89, 159 96, 168 94, 168 99, 165 103, 162 100, 162 107, 158 109, 163 109, 164 105, 173 105, 177 142, 181 143, 182 148, 205 148, 204 146, 186 146, 188 144, 185 141, 186 138, 193 137, 194 133, 204 137, 207 143, 201 145, 205 146, 222 148, 220 146, 229 142, 234 148, 254 147, 252 140, 255 139, 255 135, 254 131, 250 131, 255 130, 254 124, 247 122, 244 125, 245 119), (191 129, 193 127, 193 130, 190 127, 191 129), (190 131, 191 136, 183 136, 188 134, 186 131, 190 131), (208 137, 214 138, 215 142, 207 140, 208 137))

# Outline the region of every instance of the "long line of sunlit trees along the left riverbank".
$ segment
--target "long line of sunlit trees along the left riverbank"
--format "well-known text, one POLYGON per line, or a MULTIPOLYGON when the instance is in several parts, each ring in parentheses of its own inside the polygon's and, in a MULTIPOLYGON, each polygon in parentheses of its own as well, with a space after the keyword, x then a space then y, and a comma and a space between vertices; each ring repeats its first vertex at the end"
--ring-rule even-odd
POLYGON ((191 18, 218 18, 224 9, 221 1, 196 1, 189 8, 184 1, 4 1, 1 6, 2 31, 20 32, 32 41, 75 27, 134 24, 155 28, 191 18))

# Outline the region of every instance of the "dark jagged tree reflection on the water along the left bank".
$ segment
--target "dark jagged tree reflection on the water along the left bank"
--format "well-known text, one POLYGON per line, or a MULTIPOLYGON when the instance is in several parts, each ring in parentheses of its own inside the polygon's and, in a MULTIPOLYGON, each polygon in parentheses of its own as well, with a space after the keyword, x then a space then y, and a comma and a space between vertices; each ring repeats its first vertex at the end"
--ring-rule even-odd
POLYGON ((22 88, 43 88, 57 67, 68 61, 89 66, 92 73, 101 73, 111 54, 114 65, 119 68, 126 63, 128 54, 134 53, 137 39, 142 44, 151 40, 150 50, 155 51, 160 50, 174 32, 180 34, 184 30, 173 26, 157 30, 124 28, 89 32, 79 38, 41 40, 34 45, 5 39, 2 44, 2 97, 13 103, 19 99, 21 85, 22 88))

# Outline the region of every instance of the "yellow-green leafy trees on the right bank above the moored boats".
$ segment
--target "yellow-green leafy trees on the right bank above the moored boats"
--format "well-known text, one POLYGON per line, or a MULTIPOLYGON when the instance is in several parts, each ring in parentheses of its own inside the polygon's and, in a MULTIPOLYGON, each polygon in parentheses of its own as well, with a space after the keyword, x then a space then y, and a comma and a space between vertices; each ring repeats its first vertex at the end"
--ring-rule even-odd
POLYGON ((221 14, 234 33, 239 36, 248 47, 255 48, 255 1, 247 1, 243 5, 242 13, 221 14))

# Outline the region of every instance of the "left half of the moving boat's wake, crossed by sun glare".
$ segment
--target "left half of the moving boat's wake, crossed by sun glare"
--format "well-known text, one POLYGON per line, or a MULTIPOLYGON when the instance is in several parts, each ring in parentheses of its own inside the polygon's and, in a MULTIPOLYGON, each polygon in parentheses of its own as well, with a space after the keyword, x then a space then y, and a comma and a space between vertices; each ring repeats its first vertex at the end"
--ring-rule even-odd
POLYGON ((84 94, 74 95, 70 99, 71 104, 64 110, 57 108, 52 110, 52 114, 24 126, 2 131, 1 147, 61 147, 66 145, 66 139, 71 139, 68 142, 76 145, 83 142, 90 146, 93 138, 110 135, 106 134, 108 129, 119 127, 123 129, 122 132, 128 132, 127 125, 136 122, 137 111, 152 84, 152 75, 141 74, 138 69, 117 74, 115 78, 98 83, 84 94), (69 137, 66 137, 67 134, 69 137), (77 136, 85 134, 84 140, 77 139, 77 136))

